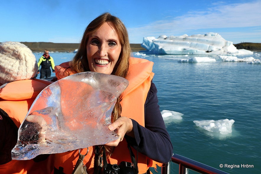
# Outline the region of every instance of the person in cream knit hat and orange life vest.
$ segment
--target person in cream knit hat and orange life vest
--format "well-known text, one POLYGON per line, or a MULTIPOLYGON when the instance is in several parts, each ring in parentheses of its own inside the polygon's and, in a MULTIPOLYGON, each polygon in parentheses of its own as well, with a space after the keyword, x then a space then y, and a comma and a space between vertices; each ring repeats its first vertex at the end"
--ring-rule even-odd
POLYGON ((0 173, 53 173, 53 155, 12 160, 18 128, 35 97, 49 84, 35 79, 38 70, 32 51, 19 42, 0 44, 0 173))

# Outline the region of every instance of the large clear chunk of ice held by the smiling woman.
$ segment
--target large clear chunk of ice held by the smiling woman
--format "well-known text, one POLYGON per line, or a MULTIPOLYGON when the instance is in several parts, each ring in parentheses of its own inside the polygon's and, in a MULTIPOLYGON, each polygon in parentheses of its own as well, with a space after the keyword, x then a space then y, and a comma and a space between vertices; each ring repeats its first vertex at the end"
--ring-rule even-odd
POLYGON ((108 129, 117 97, 129 82, 96 72, 60 79, 35 98, 18 130, 13 160, 106 144, 119 137, 108 129))

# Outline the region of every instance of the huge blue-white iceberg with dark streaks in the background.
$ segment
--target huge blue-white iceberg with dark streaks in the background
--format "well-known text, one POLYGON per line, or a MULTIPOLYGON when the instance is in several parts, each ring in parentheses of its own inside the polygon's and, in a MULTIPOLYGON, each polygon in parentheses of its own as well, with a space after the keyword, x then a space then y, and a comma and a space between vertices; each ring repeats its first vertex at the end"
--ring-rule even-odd
POLYGON ((196 55, 249 55, 252 51, 237 49, 218 33, 204 35, 161 35, 158 38, 145 37, 141 44, 147 54, 196 54, 196 55))

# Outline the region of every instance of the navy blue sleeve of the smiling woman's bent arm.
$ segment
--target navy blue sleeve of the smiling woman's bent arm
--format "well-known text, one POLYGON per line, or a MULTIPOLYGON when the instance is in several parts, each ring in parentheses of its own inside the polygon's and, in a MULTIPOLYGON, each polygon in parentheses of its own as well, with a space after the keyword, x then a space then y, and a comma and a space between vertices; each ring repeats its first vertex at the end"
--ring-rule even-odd
POLYGON ((150 159, 168 163, 173 155, 173 147, 158 105, 154 83, 151 83, 145 102, 145 127, 133 119, 132 123, 135 138, 125 135, 127 142, 136 150, 138 147, 138 151, 150 159))

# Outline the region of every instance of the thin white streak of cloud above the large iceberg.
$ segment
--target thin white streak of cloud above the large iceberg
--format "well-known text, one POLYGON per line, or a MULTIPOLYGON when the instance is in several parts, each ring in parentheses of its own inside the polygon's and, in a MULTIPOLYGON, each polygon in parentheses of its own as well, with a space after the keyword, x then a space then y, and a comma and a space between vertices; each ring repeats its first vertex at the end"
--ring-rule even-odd
MULTIPOLYGON (((175 17, 171 20, 160 20, 142 27, 129 28, 130 41, 131 43, 141 43, 143 37, 147 36, 154 36, 157 38, 162 34, 167 36, 182 35, 202 29, 221 30, 222 28, 260 27, 260 9, 261 1, 229 5, 223 5, 223 3, 213 4, 212 8, 205 11, 190 11, 183 16, 175 17)), ((237 36, 244 34, 250 35, 249 37, 251 37, 251 35, 254 34, 251 30, 249 30, 248 33, 246 33, 246 31, 244 33, 235 32, 237 32, 237 36)))

